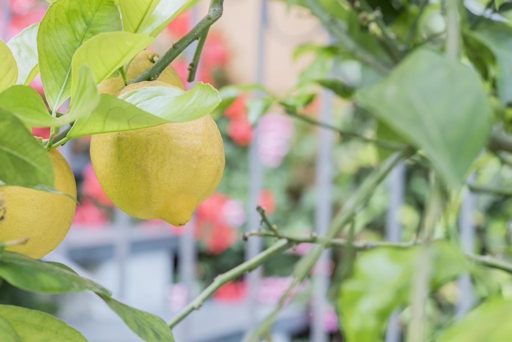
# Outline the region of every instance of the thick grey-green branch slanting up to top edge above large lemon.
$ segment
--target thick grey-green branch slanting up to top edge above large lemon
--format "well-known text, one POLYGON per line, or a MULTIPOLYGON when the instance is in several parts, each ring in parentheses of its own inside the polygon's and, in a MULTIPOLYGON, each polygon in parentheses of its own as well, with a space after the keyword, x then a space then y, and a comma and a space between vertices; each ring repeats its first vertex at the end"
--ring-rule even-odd
POLYGON ((151 68, 130 80, 128 83, 152 81, 157 79, 160 73, 170 64, 170 62, 178 57, 179 54, 195 40, 200 39, 203 33, 206 32, 209 27, 222 16, 223 3, 224 0, 211 0, 208 14, 202 18, 193 29, 184 35, 183 38, 173 44, 173 47, 164 53, 164 55, 151 68))

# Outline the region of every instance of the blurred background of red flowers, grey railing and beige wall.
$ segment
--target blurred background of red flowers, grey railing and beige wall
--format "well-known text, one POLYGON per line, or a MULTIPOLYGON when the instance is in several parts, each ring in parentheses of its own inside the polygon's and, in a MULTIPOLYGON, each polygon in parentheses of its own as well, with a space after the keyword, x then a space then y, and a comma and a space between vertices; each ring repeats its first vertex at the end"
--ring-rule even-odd
MULTIPOLYGON (((0 38, 4 41, 38 22, 48 6, 40 0, 0 0, 0 4, 0 38)), ((208 1, 201 1, 180 14, 150 49, 165 52, 194 26, 207 7, 208 1)), ((305 44, 328 41, 323 27, 305 10, 281 1, 226 0, 224 14, 206 40, 197 78, 217 88, 259 82, 275 94, 286 95, 297 82, 329 72, 332 66, 322 54, 300 53, 305 44)), ((191 46, 173 62, 184 82, 193 53, 191 46)), ((345 77, 361 77, 353 62, 342 67, 345 77)), ((31 86, 43 92, 39 77, 31 86)), ((320 88, 318 92, 320 96, 308 105, 306 115, 347 130, 373 131, 370 118, 357 113, 350 102, 320 88)), ((332 209, 343 205, 360 179, 377 164, 377 151, 368 143, 341 141, 333 133, 294 121, 279 107, 270 108, 256 126, 250 112, 254 105, 251 99, 258 96, 242 93, 216 117, 226 154, 223 180, 185 227, 127 217, 99 186, 89 159, 88 137, 62 146, 60 151, 77 181, 80 204, 67 238, 45 260, 65 263, 112 290, 114 297, 126 304, 169 319, 216 275, 273 243, 241 239, 244 231, 257 229, 260 224, 256 205, 264 207, 272 223, 283 231, 325 231, 332 209)), ((33 133, 48 137, 49 131, 34 129, 33 133)), ((486 165, 478 177, 491 182, 490 175, 497 174, 500 162, 486 165)), ((424 169, 398 167, 358 213, 356 239, 411 240, 419 226, 427 189, 424 169), (409 190, 404 194, 406 184, 409 190)), ((488 253, 508 253, 506 217, 512 202, 489 196, 468 201, 471 206, 463 213, 466 221, 462 228, 470 231, 471 239, 479 234, 477 243, 488 253), (486 230, 479 229, 484 225, 486 230)), ((474 243, 470 241, 470 245, 474 243)), ((296 246, 262 269, 224 285, 175 328, 177 341, 240 340, 274 307, 291 281, 293 264, 309 248, 307 244, 296 246)), ((330 299, 336 298, 336 293, 328 286, 336 275, 339 258, 334 251, 326 253, 311 281, 298 288, 293 302, 276 320, 273 341, 342 340, 330 299)), ((431 323, 441 325, 447 316, 467 310, 471 291, 463 279, 444 286, 435 298, 439 303, 429 307, 431 323)), ((56 314, 90 341, 139 340, 92 294, 35 295, 4 282, 0 303, 56 314)), ((398 340, 399 325, 398 319, 391 319, 388 341, 398 340)))

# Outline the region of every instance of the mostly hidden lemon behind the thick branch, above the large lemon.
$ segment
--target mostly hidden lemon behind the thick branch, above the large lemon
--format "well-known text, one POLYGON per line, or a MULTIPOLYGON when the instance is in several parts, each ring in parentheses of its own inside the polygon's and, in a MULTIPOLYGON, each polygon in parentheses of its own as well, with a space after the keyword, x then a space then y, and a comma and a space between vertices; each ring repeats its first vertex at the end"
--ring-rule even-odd
MULTIPOLYGON (((153 64, 159 58, 160 56, 153 51, 144 50, 139 52, 137 56, 134 57, 130 63, 130 66, 128 67, 128 70, 126 71, 126 79, 131 80, 137 77, 146 69, 151 68, 151 66, 153 66, 153 64)), ((183 89, 181 78, 172 66, 165 68, 160 76, 158 76, 157 80, 164 81, 180 89, 183 89)), ((124 82, 121 75, 119 75, 117 77, 109 78, 101 82, 98 86, 98 90, 102 94, 114 95, 123 87, 124 82)))

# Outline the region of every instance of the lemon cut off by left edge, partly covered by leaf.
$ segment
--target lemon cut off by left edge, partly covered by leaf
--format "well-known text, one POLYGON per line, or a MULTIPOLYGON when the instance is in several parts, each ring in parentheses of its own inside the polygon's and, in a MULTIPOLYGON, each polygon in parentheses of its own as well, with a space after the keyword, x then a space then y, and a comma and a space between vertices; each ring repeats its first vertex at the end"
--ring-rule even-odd
MULTIPOLYGON (((76 198, 75 177, 66 159, 57 150, 49 153, 55 175, 54 187, 76 198)), ((5 217, 0 221, 0 241, 29 238, 24 245, 6 249, 41 258, 51 252, 69 231, 76 203, 62 194, 20 186, 0 186, 4 198, 5 217)))

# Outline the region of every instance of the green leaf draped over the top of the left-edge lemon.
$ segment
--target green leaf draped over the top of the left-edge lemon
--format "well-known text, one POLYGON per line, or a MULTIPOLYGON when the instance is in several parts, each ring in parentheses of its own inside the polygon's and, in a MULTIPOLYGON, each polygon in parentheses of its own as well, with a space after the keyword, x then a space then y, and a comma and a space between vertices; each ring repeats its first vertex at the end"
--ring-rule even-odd
POLYGON ((53 186, 48 153, 14 115, 0 110, 0 184, 53 186))

